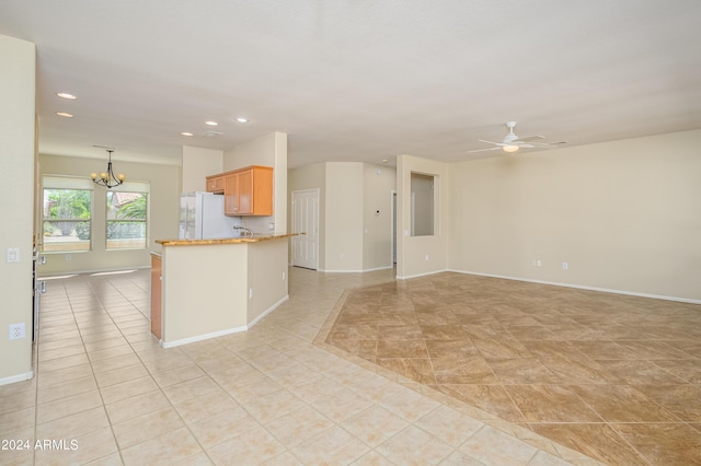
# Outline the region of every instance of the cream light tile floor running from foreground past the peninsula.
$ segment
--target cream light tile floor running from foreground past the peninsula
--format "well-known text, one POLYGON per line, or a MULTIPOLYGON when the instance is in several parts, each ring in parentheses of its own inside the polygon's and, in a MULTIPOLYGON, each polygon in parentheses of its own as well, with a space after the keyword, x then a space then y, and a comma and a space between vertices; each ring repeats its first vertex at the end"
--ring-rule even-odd
POLYGON ((148 270, 49 280, 36 376, 0 386, 0 464, 597 464, 325 343, 345 290, 392 273, 290 269, 248 333, 166 350, 148 270))

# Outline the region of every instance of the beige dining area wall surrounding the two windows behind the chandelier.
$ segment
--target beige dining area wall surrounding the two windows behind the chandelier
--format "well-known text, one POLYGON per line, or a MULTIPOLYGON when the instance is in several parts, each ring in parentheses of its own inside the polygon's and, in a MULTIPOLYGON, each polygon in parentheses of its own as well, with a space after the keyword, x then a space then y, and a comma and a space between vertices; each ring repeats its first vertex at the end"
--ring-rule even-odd
MULTIPOLYGON (((66 254, 46 254, 46 265, 39 267, 43 276, 113 270, 130 267, 149 267, 150 251, 160 251, 156 240, 177 238, 180 212, 180 166, 151 165, 146 163, 119 162, 113 156, 115 170, 124 173, 127 180, 148 182, 149 193, 149 244, 146 249, 106 251, 105 188, 95 186, 93 191, 92 249, 66 254)), ((43 175, 69 175, 88 177, 91 172, 104 171, 107 159, 84 159, 74 156, 39 155, 39 170, 43 175)), ((37 212, 41 215, 41 211, 37 212)))

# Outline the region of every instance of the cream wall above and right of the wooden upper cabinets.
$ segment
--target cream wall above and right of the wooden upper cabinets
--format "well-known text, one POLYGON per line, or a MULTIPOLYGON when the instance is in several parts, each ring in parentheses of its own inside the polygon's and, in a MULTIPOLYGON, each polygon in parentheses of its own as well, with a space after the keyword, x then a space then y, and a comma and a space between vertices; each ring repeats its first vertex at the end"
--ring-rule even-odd
POLYGON ((273 167, 273 215, 243 217, 243 224, 256 233, 287 233, 287 135, 272 132, 223 152, 225 172, 250 165, 273 167))

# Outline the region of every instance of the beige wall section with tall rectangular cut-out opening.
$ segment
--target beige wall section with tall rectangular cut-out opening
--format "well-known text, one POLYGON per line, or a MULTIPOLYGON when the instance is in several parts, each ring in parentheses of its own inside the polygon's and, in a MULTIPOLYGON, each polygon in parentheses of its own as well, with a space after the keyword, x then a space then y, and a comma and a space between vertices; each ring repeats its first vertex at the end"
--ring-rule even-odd
POLYGON ((448 167, 449 165, 443 162, 411 155, 397 158, 397 276, 399 278, 435 273, 448 268, 450 212, 448 167), (433 236, 411 236, 412 172, 434 175, 433 236))

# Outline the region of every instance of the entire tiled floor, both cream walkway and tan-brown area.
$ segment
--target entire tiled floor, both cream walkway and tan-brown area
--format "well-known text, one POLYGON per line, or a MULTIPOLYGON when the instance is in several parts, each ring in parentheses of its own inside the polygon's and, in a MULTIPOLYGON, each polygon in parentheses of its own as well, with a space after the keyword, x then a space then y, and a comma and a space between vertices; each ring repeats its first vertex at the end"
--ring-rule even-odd
POLYGON ((47 281, 36 376, 0 386, 0 464, 701 462, 699 306, 292 268, 248 333, 164 350, 149 280, 47 281))

